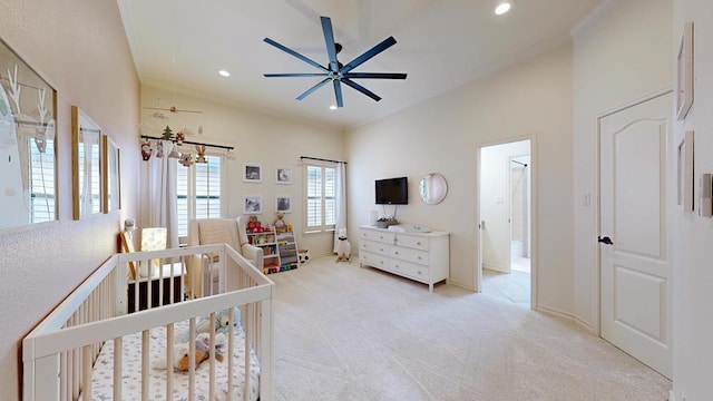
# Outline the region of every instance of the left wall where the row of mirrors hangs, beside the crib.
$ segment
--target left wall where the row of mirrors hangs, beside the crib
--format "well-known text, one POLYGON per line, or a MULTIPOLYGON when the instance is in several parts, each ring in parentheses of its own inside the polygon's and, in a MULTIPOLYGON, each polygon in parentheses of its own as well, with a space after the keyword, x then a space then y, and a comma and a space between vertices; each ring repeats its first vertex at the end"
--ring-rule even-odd
POLYGON ((0 399, 17 400, 21 339, 117 251, 120 222, 136 215, 138 78, 114 1, 4 0, 0 38, 58 92, 59 222, 0 234, 0 399), (123 150, 121 212, 71 219, 71 105, 123 150))

